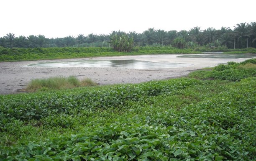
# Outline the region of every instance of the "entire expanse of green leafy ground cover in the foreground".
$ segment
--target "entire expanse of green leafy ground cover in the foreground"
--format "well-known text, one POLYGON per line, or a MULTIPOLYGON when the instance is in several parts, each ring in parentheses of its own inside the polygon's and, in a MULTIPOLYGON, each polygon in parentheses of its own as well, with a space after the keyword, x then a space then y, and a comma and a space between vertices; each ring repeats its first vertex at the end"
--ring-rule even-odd
POLYGON ((248 70, 240 81, 222 80, 223 72, 207 80, 215 71, 255 70, 251 64, 255 59, 189 78, 1 95, 0 160, 255 160, 255 76, 248 70))

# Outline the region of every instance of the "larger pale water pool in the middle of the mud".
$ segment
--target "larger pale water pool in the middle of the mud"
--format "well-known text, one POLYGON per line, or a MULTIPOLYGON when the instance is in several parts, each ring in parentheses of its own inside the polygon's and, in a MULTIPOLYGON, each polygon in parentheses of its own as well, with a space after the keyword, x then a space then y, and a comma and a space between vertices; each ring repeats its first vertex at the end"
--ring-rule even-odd
POLYGON ((82 61, 55 61, 30 64, 29 66, 39 67, 115 67, 127 69, 156 69, 156 68, 176 68, 191 66, 192 64, 182 63, 156 63, 151 61, 138 60, 82 60, 82 61))

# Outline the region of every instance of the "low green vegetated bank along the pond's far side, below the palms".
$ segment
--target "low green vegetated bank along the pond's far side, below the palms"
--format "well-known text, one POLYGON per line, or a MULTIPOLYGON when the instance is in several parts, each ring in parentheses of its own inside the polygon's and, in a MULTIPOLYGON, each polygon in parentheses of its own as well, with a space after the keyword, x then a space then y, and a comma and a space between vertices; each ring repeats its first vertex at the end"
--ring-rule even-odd
POLYGON ((200 51, 192 49, 176 49, 172 47, 140 47, 131 52, 117 52, 111 48, 1 48, 1 61, 28 61, 46 59, 68 59, 86 58, 97 56, 122 56, 122 55, 141 55, 141 54, 197 54, 200 51))

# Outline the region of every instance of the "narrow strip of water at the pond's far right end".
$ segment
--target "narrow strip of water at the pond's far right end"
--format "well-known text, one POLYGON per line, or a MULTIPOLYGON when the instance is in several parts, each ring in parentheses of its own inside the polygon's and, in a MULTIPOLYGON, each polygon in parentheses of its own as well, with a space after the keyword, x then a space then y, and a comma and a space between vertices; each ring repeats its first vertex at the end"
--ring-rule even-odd
POLYGON ((196 55, 180 55, 179 58, 222 58, 222 59, 237 59, 237 58, 254 58, 256 54, 196 54, 196 55))

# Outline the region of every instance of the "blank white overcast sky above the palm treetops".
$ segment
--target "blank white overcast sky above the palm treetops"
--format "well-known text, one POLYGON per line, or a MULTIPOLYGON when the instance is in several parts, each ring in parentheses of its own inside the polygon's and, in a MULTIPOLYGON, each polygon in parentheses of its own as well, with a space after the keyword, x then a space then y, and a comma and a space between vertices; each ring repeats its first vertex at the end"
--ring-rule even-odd
POLYGON ((0 0, 0 37, 187 30, 256 22, 256 0, 0 0))

